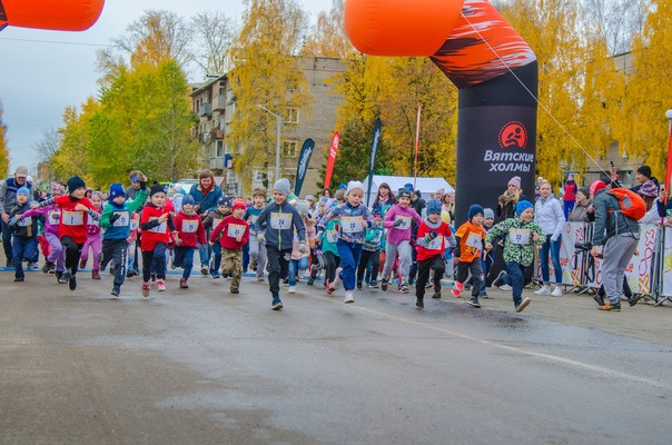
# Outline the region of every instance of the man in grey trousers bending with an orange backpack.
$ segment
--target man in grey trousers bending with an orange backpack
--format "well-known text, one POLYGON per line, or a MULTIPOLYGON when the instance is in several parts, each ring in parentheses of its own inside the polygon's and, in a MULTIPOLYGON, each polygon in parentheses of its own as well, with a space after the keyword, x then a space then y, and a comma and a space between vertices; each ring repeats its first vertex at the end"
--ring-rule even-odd
MULTIPOLYGON (((602 249, 602 283, 609 299, 599 309, 621 310, 623 276, 638 247, 638 220, 646 212, 646 205, 638 194, 614 188, 612 182, 595 194, 593 208, 595 227, 591 255, 597 257, 602 249)), ((636 299, 630 300, 631 306, 635 304, 636 299)))

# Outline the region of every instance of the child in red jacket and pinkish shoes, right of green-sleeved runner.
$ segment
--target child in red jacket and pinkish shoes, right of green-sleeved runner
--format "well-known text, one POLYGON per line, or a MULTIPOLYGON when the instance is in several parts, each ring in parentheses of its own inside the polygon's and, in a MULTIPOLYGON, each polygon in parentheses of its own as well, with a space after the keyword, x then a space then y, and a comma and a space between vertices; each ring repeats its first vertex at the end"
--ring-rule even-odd
POLYGON ((164 186, 155 184, 149 189, 150 202, 142 208, 140 217, 140 249, 142 250, 142 296, 149 297, 149 280, 151 273, 157 274, 157 289, 166 290, 166 248, 170 241, 175 224, 170 216, 170 209, 165 206, 166 191, 164 186), (168 231, 170 229, 170 231, 168 231))

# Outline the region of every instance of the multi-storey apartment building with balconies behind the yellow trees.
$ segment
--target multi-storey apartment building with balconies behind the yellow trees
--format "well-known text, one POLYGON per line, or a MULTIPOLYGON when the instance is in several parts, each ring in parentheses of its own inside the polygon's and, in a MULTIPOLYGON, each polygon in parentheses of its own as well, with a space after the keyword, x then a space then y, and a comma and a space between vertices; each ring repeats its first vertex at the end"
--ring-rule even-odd
MULTIPOLYGON (((320 57, 299 58, 298 63, 313 96, 313 108, 312 112, 302 109, 287 109, 283 112, 280 176, 289 178, 294 185, 302 146, 307 138, 313 139, 315 150, 302 189, 302 196, 305 196, 317 191, 316 182, 322 179, 319 169, 326 162, 325 157, 336 126, 336 109, 342 101, 329 79, 345 71, 345 67, 339 59, 320 57)), ((190 96, 194 112, 199 119, 192 129, 192 136, 201 144, 204 166, 225 178, 224 192, 240 196, 265 181, 273 185, 276 180, 274 162, 255 169, 251 186, 246 185, 248 187, 245 189, 243 179, 234 171, 236 152, 235 148, 227 144, 227 135, 230 134, 230 123, 236 111, 236 95, 229 85, 228 76, 218 76, 194 88, 190 96)), ((268 150, 275 154, 275 140, 268 150)), ((271 158, 275 159, 275 156, 271 158)))

